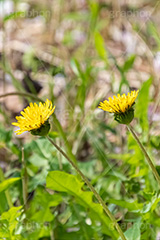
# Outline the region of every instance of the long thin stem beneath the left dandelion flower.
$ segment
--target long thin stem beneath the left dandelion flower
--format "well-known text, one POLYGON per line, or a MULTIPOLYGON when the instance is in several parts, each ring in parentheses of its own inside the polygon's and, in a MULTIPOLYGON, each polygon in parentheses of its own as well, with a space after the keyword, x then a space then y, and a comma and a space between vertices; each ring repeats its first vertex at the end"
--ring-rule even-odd
POLYGON ((81 170, 77 167, 77 165, 73 161, 70 160, 70 158, 66 155, 66 153, 59 146, 57 146, 57 144, 51 138, 49 138, 48 136, 47 136, 47 138, 52 143, 52 145, 69 161, 69 163, 72 165, 72 167, 79 173, 79 175, 82 177, 84 182, 88 185, 89 189, 93 192, 93 194, 95 195, 95 197, 97 198, 99 203, 102 205, 104 211, 106 212, 106 214, 108 215, 108 217, 112 221, 113 226, 117 229, 117 232, 121 236, 121 239, 126 240, 126 238, 125 238, 125 236, 122 232, 122 229, 118 225, 116 219, 114 218, 112 213, 109 211, 107 205, 105 204, 103 199, 100 197, 100 195, 97 193, 97 191, 94 189, 94 187, 92 186, 90 181, 85 177, 85 175, 81 172, 81 170))

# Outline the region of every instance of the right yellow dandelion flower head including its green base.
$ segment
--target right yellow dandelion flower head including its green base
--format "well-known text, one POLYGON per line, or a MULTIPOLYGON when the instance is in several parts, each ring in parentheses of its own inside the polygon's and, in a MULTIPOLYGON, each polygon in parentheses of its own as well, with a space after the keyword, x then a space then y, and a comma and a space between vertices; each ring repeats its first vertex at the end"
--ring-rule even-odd
POLYGON ((133 105, 138 96, 137 91, 132 91, 128 95, 117 94, 113 98, 109 97, 108 100, 100 102, 99 108, 104 111, 114 113, 115 120, 122 124, 129 124, 134 118, 133 105))

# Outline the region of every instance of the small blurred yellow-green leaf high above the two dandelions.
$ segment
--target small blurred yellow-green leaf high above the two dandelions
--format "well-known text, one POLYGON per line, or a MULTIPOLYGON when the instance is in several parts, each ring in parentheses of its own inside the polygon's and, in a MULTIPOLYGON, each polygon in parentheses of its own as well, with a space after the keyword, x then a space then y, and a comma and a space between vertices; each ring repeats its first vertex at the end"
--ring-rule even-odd
POLYGON ((99 57, 102 60, 104 60, 106 63, 108 63, 108 55, 107 55, 107 51, 105 49, 105 43, 99 32, 95 33, 94 40, 95 40, 95 47, 96 47, 99 57))

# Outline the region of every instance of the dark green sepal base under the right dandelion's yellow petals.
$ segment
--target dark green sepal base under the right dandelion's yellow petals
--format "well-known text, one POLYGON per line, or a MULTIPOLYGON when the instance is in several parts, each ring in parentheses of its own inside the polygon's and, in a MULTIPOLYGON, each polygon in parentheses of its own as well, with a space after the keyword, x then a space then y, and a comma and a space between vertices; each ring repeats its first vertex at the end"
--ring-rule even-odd
POLYGON ((116 120, 120 124, 129 124, 132 122, 134 118, 134 109, 130 108, 124 113, 115 113, 114 114, 114 120, 116 120))

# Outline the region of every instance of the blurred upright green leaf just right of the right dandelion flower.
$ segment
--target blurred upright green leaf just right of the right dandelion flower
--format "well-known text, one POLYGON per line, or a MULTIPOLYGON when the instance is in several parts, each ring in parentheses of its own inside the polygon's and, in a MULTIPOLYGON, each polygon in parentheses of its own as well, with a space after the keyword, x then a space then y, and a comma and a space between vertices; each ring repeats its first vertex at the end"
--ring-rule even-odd
POLYGON ((135 116, 139 118, 141 128, 144 132, 148 132, 148 105, 149 105, 149 88, 152 78, 143 83, 136 101, 135 116))

